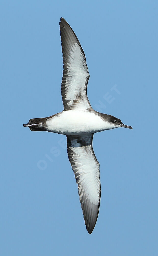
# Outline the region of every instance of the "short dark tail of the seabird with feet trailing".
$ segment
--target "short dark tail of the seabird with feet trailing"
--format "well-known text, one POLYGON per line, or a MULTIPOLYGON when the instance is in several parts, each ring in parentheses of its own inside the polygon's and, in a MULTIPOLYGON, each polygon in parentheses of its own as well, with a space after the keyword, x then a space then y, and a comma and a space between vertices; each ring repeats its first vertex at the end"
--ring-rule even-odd
POLYGON ((44 129, 44 122, 46 118, 33 118, 29 120, 28 124, 23 124, 24 127, 29 127, 31 131, 46 131, 44 129))

